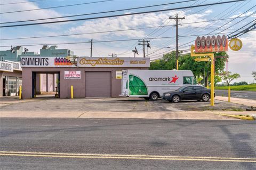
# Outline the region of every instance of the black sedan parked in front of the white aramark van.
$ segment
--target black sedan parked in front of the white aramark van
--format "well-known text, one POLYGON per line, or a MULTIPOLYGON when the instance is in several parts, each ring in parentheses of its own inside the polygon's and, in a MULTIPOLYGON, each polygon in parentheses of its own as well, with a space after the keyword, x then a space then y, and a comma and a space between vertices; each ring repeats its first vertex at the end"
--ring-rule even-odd
MULTIPOLYGON (((215 93, 214 93, 215 97, 215 93)), ((204 102, 211 98, 211 90, 203 86, 182 86, 175 91, 163 93, 162 99, 177 103, 180 100, 197 100, 204 102)))

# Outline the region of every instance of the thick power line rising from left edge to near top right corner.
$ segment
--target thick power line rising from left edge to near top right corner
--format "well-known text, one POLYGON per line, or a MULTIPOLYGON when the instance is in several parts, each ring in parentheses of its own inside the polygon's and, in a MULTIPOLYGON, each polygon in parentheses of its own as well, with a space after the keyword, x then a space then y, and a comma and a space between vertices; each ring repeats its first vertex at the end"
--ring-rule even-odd
POLYGON ((176 7, 176 8, 173 8, 173 9, 162 9, 162 10, 145 11, 145 12, 137 12, 137 13, 126 13, 126 14, 108 15, 108 16, 102 16, 102 17, 92 17, 92 18, 82 18, 82 19, 73 19, 73 20, 62 20, 62 21, 50 21, 50 22, 39 22, 39 23, 27 23, 27 24, 21 24, 21 25, 0 26, 0 28, 32 26, 32 25, 42 25, 42 24, 47 24, 47 23, 82 21, 82 20, 93 20, 93 19, 102 19, 102 18, 113 18, 113 17, 123 17, 123 16, 127 16, 127 15, 137 15, 137 14, 145 14, 145 13, 153 13, 153 12, 172 11, 172 10, 187 9, 187 8, 192 8, 192 7, 227 4, 227 3, 239 2, 239 1, 245 1, 245 0, 236 0, 236 1, 228 1, 228 2, 220 2, 220 3, 212 3, 212 4, 203 4, 203 5, 196 5, 196 6, 176 7))

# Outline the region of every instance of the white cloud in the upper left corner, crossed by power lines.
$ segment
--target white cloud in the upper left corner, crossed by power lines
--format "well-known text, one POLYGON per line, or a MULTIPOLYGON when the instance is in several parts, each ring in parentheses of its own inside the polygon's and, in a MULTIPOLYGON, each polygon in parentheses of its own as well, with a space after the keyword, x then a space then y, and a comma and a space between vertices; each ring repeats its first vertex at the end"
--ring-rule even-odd
MULTIPOLYGON (((12 1, 10 1, 10 3, 11 2, 12 1)), ((28 2, 28 1, 24 1, 24 2, 28 2)), ((33 2, 21 3, 21 4, 11 4, 11 5, 8 5, 7 7, 6 7, 6 5, 0 6, 1 12, 23 11, 23 10, 31 10, 31 9, 40 9, 40 7, 36 3, 33 3, 33 2)), ((1 14, 1 22, 33 20, 33 19, 53 18, 53 17, 61 17, 61 16, 62 15, 60 13, 58 13, 54 10, 51 10, 51 9, 25 11, 25 12, 1 14)), ((51 21, 59 21, 59 20, 67 20, 67 18, 52 19, 51 21)), ((34 22, 43 22, 43 21, 49 21, 49 20, 33 21, 33 23, 34 22)), ((15 25, 15 23, 12 23, 12 24, 15 25)), ((54 24, 47 24, 47 25, 41 25, 41 26, 47 27, 47 28, 59 29, 59 25, 63 25, 63 24, 65 24, 65 23, 54 23, 54 24)))

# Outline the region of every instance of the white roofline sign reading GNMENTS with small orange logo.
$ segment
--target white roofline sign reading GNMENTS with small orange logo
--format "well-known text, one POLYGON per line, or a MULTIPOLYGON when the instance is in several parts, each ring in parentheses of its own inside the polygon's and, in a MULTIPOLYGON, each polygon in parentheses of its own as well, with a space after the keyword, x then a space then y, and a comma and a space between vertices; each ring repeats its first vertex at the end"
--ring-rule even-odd
POLYGON ((22 56, 21 67, 76 67, 70 60, 63 57, 22 56))

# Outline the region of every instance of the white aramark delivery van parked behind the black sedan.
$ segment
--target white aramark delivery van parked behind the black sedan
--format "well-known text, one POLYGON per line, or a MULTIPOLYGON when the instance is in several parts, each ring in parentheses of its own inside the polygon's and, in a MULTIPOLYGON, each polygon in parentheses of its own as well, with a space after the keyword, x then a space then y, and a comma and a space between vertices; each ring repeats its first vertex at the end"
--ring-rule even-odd
POLYGON ((198 85, 191 70, 123 70, 119 96, 157 100, 183 85, 198 85))

